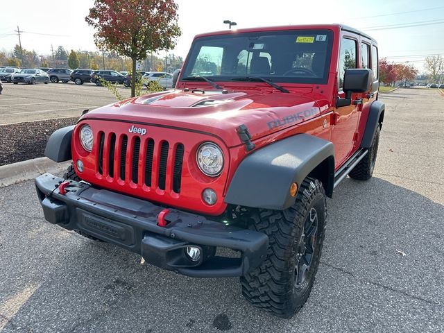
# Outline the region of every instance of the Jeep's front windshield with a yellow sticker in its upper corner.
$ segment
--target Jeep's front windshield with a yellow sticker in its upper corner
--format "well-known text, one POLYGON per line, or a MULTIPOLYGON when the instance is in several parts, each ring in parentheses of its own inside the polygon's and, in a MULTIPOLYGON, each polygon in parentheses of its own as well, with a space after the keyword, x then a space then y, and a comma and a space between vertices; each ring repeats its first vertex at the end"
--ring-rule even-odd
POLYGON ((181 78, 230 81, 259 76, 283 83, 327 83, 332 41, 329 30, 200 37, 191 46, 181 78))

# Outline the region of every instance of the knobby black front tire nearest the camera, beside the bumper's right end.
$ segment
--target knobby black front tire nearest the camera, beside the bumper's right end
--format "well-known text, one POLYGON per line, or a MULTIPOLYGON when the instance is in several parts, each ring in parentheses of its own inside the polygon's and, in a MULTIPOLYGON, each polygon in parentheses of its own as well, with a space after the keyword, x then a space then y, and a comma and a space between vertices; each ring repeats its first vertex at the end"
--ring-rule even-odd
POLYGON ((262 265, 241 277, 242 293, 255 307, 290 318, 307 301, 321 258, 326 212, 321 182, 306 178, 292 207, 250 216, 251 228, 269 241, 262 265))

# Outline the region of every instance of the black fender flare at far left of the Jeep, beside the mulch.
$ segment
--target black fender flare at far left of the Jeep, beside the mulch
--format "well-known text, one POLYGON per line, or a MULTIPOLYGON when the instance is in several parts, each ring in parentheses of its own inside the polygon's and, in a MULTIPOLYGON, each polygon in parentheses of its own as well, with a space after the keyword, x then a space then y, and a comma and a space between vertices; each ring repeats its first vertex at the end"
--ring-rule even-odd
POLYGON ((51 134, 44 148, 44 155, 54 162, 71 160, 71 137, 73 130, 74 125, 60 128, 51 134))

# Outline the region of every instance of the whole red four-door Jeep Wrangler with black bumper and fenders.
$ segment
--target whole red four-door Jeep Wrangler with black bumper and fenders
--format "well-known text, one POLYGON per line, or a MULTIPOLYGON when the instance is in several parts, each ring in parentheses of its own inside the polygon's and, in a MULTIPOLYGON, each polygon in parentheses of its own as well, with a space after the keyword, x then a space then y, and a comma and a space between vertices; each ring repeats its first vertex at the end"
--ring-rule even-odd
POLYGON ((176 89, 86 112, 35 180, 47 221, 149 264, 239 276, 245 298, 289 317, 307 300, 326 197, 368 180, 384 104, 377 44, 341 25, 198 35, 176 89))

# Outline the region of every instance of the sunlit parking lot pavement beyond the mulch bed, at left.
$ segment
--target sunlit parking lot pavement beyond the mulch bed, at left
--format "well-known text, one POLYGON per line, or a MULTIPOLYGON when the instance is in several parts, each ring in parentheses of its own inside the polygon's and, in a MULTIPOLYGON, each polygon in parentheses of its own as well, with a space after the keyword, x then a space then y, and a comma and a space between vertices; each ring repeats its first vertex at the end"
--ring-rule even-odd
MULTIPOLYGON (((130 89, 119 89, 122 96, 129 97, 130 89)), ((94 109, 116 101, 105 87, 92 83, 75 85, 49 83, 45 85, 3 84, 0 95, 0 125, 22 121, 80 117, 85 109, 94 109)))

